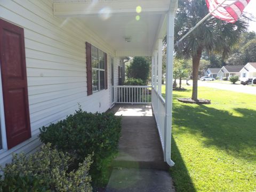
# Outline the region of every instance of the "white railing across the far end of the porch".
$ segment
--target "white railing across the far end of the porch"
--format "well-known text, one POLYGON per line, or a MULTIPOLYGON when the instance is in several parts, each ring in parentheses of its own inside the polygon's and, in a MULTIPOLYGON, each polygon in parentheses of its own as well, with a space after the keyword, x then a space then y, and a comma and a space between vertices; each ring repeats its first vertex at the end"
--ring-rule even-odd
POLYGON ((151 86, 115 86, 116 103, 151 103, 151 86))

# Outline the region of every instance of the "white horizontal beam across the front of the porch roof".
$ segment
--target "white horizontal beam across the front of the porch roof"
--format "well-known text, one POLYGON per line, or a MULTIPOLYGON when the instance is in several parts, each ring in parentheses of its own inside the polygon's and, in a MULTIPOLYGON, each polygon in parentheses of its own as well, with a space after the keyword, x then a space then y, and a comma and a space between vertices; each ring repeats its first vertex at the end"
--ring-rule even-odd
POLYGON ((86 17, 99 14, 159 14, 170 9, 170 0, 93 1, 53 3, 53 13, 59 17, 86 17), (137 13, 136 7, 141 7, 137 13))

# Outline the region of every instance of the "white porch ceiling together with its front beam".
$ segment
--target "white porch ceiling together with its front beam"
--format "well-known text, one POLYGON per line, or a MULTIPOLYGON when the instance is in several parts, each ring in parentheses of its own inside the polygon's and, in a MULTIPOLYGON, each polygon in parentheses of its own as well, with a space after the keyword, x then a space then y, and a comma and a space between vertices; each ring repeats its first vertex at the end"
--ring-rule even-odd
POLYGON ((123 57, 152 55, 157 38, 166 33, 166 12, 174 10, 177 1, 53 0, 53 5, 57 17, 78 18, 123 57))

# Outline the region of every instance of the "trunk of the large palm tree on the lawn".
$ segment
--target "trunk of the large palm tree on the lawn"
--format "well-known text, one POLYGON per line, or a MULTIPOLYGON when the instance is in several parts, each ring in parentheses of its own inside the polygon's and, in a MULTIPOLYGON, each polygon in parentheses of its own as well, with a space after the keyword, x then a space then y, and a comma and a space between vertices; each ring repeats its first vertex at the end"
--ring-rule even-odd
POLYGON ((203 49, 199 47, 197 49, 197 54, 193 55, 192 63, 193 63, 193 90, 192 90, 192 99, 194 101, 197 100, 197 81, 198 81, 198 70, 199 70, 199 63, 202 57, 203 49))

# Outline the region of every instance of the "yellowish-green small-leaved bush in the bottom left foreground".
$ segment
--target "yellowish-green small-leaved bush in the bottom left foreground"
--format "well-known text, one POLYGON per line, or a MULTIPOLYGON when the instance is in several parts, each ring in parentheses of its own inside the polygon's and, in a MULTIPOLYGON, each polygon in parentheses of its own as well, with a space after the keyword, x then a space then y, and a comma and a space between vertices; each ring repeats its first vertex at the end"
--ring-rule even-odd
POLYGON ((52 149, 50 143, 28 156, 14 154, 12 163, 2 169, 1 191, 92 191, 91 156, 70 172, 68 165, 73 160, 67 153, 52 149))

